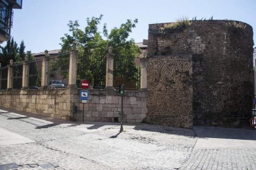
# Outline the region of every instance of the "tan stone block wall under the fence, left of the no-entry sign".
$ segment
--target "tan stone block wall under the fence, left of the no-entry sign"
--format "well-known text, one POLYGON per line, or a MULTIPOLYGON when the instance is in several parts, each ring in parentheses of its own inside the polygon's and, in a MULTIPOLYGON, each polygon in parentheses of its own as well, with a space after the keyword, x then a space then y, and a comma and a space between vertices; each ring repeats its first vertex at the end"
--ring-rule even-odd
POLYGON ((0 105, 62 119, 72 110, 70 89, 0 91, 0 105))

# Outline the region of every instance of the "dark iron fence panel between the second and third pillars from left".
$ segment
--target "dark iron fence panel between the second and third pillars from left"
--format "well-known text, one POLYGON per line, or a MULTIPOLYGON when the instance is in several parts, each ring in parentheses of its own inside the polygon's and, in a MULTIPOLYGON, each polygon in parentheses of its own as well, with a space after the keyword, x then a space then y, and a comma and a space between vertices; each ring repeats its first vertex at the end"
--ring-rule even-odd
POLYGON ((28 89, 41 87, 42 59, 28 61, 28 89))

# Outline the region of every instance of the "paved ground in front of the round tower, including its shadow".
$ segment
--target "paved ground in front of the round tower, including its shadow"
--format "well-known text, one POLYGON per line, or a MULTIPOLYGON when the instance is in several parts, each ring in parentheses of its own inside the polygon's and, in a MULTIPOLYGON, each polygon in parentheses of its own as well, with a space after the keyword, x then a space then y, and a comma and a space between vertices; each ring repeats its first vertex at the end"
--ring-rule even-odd
POLYGON ((256 169, 256 131, 195 126, 197 142, 181 169, 256 169))

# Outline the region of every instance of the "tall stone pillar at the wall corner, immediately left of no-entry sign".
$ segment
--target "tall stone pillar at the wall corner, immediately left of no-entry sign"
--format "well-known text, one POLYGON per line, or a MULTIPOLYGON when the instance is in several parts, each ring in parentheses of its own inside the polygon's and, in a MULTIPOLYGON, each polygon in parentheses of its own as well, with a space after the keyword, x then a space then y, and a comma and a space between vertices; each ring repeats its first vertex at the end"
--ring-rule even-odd
POLYGON ((68 87, 77 87, 77 55, 78 51, 73 47, 69 51, 69 84, 68 87))

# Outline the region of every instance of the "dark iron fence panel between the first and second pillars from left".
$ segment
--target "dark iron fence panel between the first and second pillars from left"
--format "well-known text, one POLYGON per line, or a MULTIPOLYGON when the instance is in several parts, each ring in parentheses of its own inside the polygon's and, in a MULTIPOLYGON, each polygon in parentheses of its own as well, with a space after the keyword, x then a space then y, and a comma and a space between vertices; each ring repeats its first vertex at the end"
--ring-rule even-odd
POLYGON ((12 75, 12 89, 21 89, 22 88, 22 70, 23 64, 22 63, 14 63, 12 65, 13 75, 12 75))

